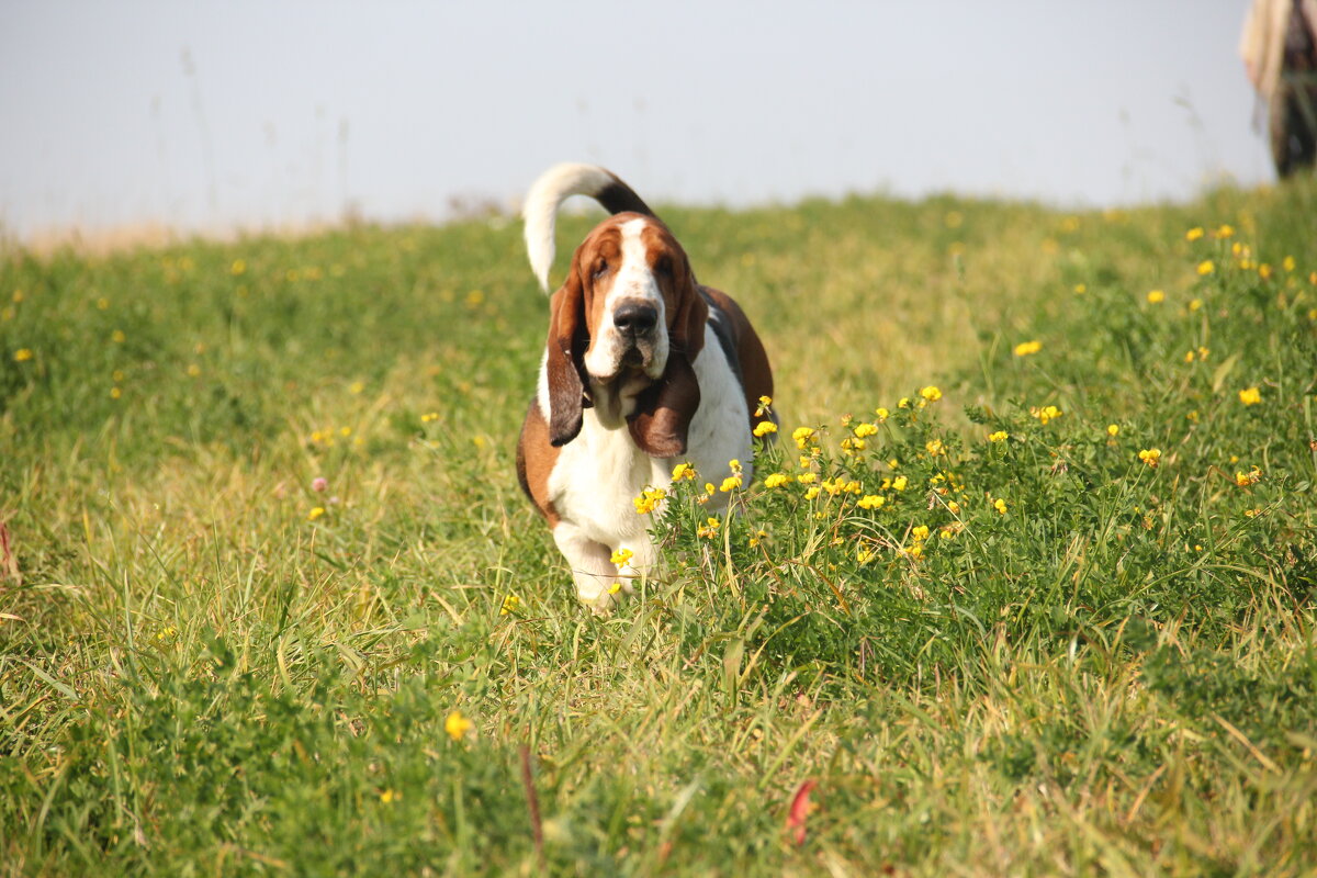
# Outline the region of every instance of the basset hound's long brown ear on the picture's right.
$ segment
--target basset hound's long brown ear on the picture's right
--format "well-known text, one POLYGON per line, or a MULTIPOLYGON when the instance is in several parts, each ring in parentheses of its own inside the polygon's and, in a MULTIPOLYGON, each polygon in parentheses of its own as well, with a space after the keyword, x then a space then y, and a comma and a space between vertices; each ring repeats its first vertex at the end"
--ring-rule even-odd
POLYGON ((705 346, 709 305, 695 288, 685 255, 674 274, 680 304, 668 329, 668 365, 662 376, 640 394, 636 411, 627 419, 631 438, 651 457, 685 454, 690 421, 699 408, 699 380, 691 363, 705 346))

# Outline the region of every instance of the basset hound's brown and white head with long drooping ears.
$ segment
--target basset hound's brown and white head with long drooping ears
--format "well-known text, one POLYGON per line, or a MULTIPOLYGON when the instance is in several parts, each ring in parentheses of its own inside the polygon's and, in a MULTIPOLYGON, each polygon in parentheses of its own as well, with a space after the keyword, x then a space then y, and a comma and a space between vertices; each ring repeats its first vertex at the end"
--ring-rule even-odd
POLYGON ((627 420, 645 453, 684 454, 709 307, 668 228, 639 213, 601 222, 577 247, 551 308, 549 440, 570 442, 582 408, 599 405, 606 425, 627 420))

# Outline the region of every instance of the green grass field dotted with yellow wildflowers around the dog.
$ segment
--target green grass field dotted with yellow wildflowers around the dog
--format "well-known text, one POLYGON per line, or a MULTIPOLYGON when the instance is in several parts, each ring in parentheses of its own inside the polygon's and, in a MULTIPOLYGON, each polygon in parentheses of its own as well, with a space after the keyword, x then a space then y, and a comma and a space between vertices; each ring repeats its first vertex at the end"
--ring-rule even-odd
POLYGON ((607 617, 519 225, 5 253, 0 873, 1313 874, 1317 180, 661 213, 782 432, 607 617))

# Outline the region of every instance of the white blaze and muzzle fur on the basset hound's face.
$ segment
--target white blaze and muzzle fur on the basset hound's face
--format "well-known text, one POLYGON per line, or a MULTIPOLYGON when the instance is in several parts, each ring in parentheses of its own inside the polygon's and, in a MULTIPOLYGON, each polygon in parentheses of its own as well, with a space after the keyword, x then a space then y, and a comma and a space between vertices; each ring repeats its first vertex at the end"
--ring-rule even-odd
POLYGON ((668 315, 662 291, 658 288, 658 279, 655 278, 653 270, 649 267, 645 244, 640 237, 648 224, 648 219, 637 217, 619 226, 622 232, 622 265, 616 266, 614 271, 612 286, 603 300, 601 325, 593 328, 590 350, 585 355, 585 369, 595 378, 612 378, 622 369, 622 357, 627 353, 627 342, 612 323, 612 316, 623 301, 633 299, 648 301, 658 311, 653 351, 645 366, 645 374, 649 378, 658 378, 668 366, 668 315))

